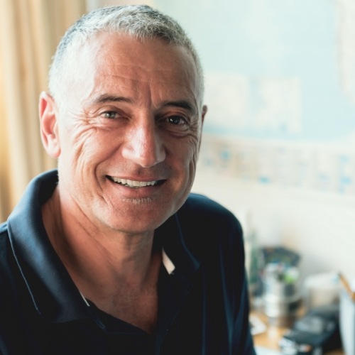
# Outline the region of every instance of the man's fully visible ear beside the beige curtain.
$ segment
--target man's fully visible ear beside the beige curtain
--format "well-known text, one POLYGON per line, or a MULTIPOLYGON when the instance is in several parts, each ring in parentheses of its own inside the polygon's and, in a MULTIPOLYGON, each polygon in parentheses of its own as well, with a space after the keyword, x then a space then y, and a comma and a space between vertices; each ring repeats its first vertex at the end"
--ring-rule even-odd
POLYGON ((58 109, 55 101, 47 92, 40 93, 40 137, 45 151, 52 158, 60 155, 60 141, 58 135, 58 109))

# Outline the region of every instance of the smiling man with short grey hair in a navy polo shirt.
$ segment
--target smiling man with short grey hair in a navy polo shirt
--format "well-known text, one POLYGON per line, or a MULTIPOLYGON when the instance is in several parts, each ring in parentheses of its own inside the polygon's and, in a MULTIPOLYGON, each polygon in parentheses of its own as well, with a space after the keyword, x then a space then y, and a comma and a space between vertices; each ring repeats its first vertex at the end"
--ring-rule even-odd
POLYGON ((189 196, 207 109, 182 28, 148 6, 93 11, 49 86, 58 171, 0 227, 1 354, 254 354, 239 222, 189 196))

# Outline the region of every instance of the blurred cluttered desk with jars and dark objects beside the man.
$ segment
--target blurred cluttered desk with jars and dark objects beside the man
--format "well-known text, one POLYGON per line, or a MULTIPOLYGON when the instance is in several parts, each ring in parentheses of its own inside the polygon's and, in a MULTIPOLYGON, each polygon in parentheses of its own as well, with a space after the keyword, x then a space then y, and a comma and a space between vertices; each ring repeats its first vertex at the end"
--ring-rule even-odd
POLYGON ((355 285, 339 273, 318 274, 304 281, 301 292, 297 255, 273 248, 263 258, 261 290, 251 289, 257 354, 354 355, 355 285))

